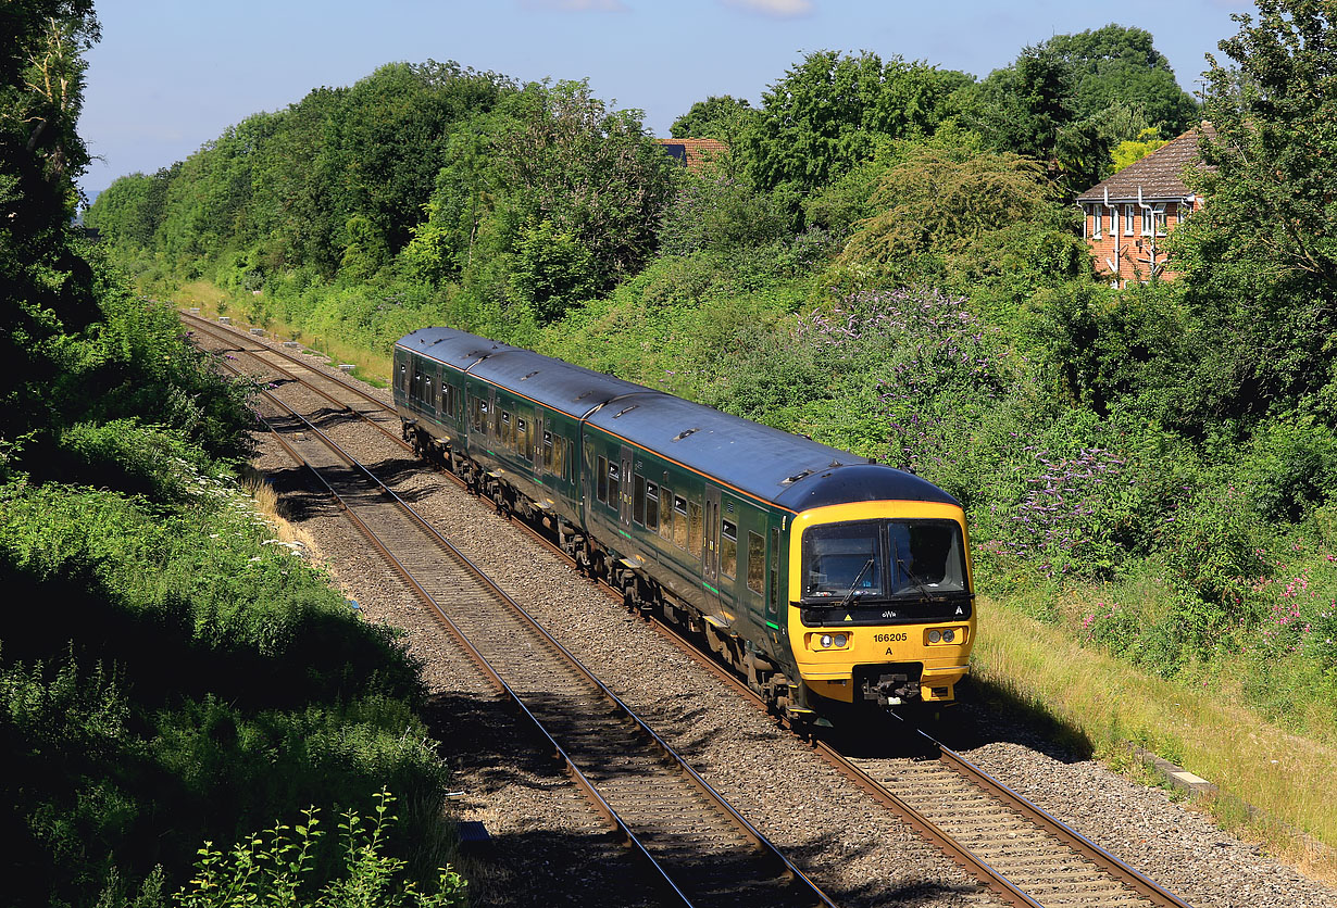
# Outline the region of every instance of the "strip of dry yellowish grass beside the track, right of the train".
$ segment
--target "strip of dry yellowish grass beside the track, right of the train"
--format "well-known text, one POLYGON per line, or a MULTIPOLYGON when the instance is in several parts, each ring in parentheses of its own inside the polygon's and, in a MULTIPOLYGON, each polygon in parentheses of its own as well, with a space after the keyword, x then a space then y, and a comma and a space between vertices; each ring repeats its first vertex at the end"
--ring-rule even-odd
POLYGON ((973 674, 1086 736, 1099 756, 1134 741, 1221 789, 1205 805, 1226 828, 1265 841, 1312 876, 1337 881, 1337 748, 1290 734, 1238 705, 1229 685, 1166 681, 1064 630, 981 601, 973 674), (1245 805, 1257 808, 1251 816, 1245 805))

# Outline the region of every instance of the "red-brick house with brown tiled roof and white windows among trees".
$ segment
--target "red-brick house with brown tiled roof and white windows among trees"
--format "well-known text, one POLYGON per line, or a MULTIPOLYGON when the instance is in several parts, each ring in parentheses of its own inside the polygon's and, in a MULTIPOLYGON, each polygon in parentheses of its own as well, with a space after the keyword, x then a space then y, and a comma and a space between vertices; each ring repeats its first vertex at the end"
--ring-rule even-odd
POLYGON ((1211 127, 1189 130, 1078 196, 1086 215, 1082 236, 1096 272, 1115 286, 1175 276, 1165 270, 1165 238, 1202 207, 1202 196, 1185 186, 1183 171, 1198 160, 1203 128, 1211 127))

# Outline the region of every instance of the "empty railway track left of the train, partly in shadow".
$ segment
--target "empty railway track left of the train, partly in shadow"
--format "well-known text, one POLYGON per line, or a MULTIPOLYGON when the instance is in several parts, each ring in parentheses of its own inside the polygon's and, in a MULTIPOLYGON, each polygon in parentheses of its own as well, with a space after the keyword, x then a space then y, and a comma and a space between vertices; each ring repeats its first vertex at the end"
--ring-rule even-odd
POLYGON ((263 391, 262 417, 564 760, 666 904, 833 903, 496 584, 321 430, 263 391))

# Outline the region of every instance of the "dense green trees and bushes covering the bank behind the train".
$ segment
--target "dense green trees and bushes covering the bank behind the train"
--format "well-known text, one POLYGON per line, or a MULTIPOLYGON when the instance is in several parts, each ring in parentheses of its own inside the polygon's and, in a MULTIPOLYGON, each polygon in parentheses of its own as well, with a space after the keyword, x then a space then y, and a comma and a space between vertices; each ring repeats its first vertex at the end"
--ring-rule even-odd
POLYGON ((370 350, 457 324, 915 470, 969 509, 985 592, 1337 734, 1316 718, 1337 713, 1333 17, 1261 3, 1203 109, 1119 25, 980 80, 814 52, 758 107, 675 123, 727 142, 703 168, 583 83, 408 68, 410 93, 481 100, 439 120, 431 187, 416 170, 394 207, 299 207, 325 206, 301 162, 386 115, 348 107, 386 97, 360 83, 247 132, 253 195, 221 188, 246 186, 225 136, 88 219, 142 286, 205 276, 262 323, 370 350), (1104 286, 1074 195, 1203 118, 1182 278, 1104 286), (211 194, 241 202, 230 231, 185 218, 211 194))

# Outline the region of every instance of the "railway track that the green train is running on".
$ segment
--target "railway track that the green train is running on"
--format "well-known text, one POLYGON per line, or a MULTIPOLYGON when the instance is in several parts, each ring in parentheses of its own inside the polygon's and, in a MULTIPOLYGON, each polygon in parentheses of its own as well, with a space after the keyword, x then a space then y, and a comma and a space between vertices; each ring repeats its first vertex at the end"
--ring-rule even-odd
MULTIPOLYGON (((257 346, 263 345, 257 342, 257 346)), ((278 351, 269 350, 270 355, 275 353, 278 351)), ((269 357, 265 359, 267 362, 269 357)), ((336 398, 341 394, 368 398, 346 382, 330 379, 318 370, 306 371, 314 371, 322 379, 346 389, 334 393, 336 398)), ((376 406, 385 407, 378 401, 376 406)), ((397 429, 393 410, 389 410, 389 417, 397 429)), ((385 429, 381 427, 381 431, 385 429)), ((398 431, 392 437, 405 445, 398 431)), ((535 531, 535 535, 564 557, 541 533, 535 531)), ((614 594, 620 598, 615 592, 614 594)), ((682 638, 670 625, 655 624, 658 630, 679 642, 694 660, 761 706, 759 698, 745 684, 701 652, 693 641, 682 638)), ((915 757, 856 758, 825 741, 813 741, 813 746, 832 766, 897 813, 1009 904, 1028 908, 1187 908, 1173 893, 923 730, 913 729, 910 733, 921 745, 915 757)))

